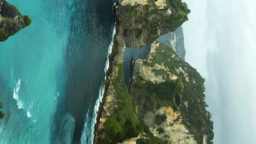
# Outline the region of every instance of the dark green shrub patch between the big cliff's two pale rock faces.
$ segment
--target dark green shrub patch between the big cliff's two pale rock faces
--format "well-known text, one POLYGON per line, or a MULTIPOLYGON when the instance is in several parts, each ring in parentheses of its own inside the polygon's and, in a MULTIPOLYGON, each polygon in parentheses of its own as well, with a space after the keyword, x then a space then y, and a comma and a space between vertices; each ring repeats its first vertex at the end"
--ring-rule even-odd
POLYGON ((165 81, 162 83, 144 82, 142 76, 132 84, 131 95, 137 95, 138 101, 147 99, 149 103, 144 103, 144 113, 154 109, 154 103, 159 105, 170 105, 174 110, 178 110, 183 94, 183 84, 180 79, 176 81, 165 81), (176 102, 177 101, 177 102, 176 102))

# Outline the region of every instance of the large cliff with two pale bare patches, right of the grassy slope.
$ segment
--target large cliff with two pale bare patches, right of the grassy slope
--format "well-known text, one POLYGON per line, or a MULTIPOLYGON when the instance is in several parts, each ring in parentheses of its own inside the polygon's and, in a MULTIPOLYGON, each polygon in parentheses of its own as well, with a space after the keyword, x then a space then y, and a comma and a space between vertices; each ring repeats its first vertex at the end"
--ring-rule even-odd
POLYGON ((138 116, 162 141, 210 143, 212 122, 205 110, 203 82, 194 68, 154 41, 148 59, 134 62, 130 95, 138 116))

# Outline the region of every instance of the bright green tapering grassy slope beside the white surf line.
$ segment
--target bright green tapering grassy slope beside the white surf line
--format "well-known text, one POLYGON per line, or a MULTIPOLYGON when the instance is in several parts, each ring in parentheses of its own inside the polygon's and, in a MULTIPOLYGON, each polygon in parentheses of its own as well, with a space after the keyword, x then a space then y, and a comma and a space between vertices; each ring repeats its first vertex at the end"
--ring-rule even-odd
POLYGON ((104 124, 105 137, 100 143, 117 143, 131 137, 136 137, 143 131, 149 131, 136 115, 136 106, 125 85, 123 63, 118 67, 118 76, 112 80, 116 97, 115 109, 104 124))

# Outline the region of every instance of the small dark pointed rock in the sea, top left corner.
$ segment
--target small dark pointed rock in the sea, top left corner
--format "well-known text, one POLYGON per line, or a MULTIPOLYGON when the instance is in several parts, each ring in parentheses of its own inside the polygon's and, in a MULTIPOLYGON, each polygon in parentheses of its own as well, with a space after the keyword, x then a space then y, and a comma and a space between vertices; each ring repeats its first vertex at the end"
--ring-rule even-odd
POLYGON ((30 23, 30 17, 21 15, 14 5, 0 0, 0 41, 7 40, 30 23))

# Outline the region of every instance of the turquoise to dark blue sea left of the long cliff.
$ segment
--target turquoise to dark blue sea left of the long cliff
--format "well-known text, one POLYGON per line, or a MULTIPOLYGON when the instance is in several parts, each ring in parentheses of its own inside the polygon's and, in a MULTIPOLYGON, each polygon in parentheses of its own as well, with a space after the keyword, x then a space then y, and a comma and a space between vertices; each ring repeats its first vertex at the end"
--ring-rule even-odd
POLYGON ((32 25, 0 43, 0 143, 92 143, 112 0, 9 0, 32 25))

